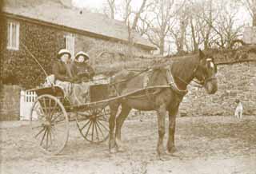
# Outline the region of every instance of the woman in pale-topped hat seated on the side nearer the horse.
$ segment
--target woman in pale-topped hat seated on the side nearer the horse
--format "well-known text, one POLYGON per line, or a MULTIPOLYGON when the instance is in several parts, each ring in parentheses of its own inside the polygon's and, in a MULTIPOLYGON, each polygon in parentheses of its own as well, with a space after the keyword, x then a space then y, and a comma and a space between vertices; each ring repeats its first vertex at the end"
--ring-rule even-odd
POLYGON ((89 55, 82 51, 74 57, 73 72, 82 82, 91 81, 94 77, 94 69, 89 65, 89 55))

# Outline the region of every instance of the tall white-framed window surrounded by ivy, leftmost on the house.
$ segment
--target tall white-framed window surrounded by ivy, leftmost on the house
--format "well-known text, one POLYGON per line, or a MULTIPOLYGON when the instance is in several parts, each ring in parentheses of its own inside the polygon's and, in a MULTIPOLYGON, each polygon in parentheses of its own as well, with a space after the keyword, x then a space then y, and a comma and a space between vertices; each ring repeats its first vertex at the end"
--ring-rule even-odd
POLYGON ((19 23, 8 22, 7 49, 18 50, 19 47, 19 23))

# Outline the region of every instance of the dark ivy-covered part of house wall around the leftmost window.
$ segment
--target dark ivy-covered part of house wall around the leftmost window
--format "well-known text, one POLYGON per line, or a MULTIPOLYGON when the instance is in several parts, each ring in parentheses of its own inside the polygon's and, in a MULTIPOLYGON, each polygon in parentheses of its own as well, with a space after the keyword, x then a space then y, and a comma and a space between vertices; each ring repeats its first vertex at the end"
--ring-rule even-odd
POLYGON ((58 50, 65 47, 62 31, 30 22, 19 22, 19 49, 7 49, 7 20, 2 20, 1 77, 3 83, 20 85, 26 89, 39 85, 45 78, 42 69, 31 57, 34 55, 51 73, 51 62, 58 50), (26 45, 27 51, 23 45, 26 45), (29 53, 30 52, 30 53, 29 53))

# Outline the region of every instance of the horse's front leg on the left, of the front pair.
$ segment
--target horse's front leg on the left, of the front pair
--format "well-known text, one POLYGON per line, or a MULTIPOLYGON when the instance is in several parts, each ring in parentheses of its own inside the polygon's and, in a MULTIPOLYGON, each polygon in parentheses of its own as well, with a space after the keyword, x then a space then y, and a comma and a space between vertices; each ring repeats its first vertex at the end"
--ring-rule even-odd
POLYGON ((164 154, 163 138, 166 133, 166 105, 160 105, 158 111, 158 155, 161 157, 164 154))

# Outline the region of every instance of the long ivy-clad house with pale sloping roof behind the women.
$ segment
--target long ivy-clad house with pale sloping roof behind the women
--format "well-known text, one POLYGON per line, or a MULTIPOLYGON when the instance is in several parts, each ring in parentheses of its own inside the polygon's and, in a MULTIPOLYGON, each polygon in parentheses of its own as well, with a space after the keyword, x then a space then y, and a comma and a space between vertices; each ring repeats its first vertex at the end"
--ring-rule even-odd
MULTIPOLYGON (((102 49, 126 49, 126 24, 104 14, 65 6, 60 0, 4 2, 0 28, 4 83, 33 88, 43 81, 45 75, 31 53, 51 73, 51 61, 62 48, 70 49, 73 55, 85 51, 91 59, 102 49)), ((137 33, 133 41, 135 51, 150 53, 155 49, 137 33)))

